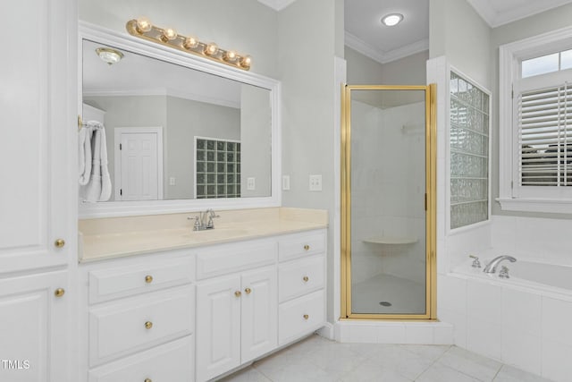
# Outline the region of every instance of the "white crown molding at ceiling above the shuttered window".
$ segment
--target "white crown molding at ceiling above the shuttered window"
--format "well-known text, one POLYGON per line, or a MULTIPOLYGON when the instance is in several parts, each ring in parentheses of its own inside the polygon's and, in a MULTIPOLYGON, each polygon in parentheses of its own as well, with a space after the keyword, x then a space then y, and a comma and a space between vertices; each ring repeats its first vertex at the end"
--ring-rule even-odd
POLYGON ((484 21, 491 28, 497 28, 509 22, 525 19, 537 13, 543 13, 560 5, 572 3, 571 0, 543 0, 530 1, 528 4, 514 7, 508 11, 496 12, 492 8, 492 0, 467 0, 475 8, 484 21))

